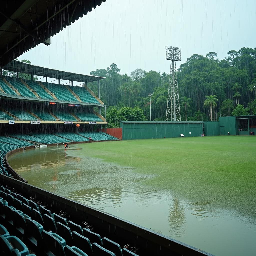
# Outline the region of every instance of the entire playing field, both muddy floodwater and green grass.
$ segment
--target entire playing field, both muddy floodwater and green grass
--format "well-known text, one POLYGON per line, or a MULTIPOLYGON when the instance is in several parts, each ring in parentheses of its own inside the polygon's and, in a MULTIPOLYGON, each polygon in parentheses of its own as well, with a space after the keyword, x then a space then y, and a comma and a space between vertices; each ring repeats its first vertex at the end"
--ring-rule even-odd
POLYGON ((10 156, 29 184, 215 255, 255 255, 256 136, 48 147, 10 156))

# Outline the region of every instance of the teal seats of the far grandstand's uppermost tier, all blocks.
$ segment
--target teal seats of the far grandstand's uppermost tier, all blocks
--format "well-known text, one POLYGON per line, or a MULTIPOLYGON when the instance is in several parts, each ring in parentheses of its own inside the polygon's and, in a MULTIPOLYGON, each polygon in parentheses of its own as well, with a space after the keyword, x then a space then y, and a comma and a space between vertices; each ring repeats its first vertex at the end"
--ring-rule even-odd
MULTIPOLYGON (((15 88, 18 90, 18 92, 21 94, 18 95, 16 92, 11 89, 1 78, 0 79, 0 86, 2 87, 3 91, 6 94, 15 95, 17 97, 26 97, 26 98, 33 98, 36 99, 36 95, 30 91, 25 84, 23 84, 19 78, 14 77, 5 77, 5 79, 15 88)), ((44 89, 41 87, 39 82, 37 81, 31 81, 28 79, 23 79, 23 81, 34 91, 38 94, 38 96, 45 100, 54 100, 54 98, 44 89)), ((56 98, 60 101, 66 101, 66 102, 74 102, 79 104, 80 101, 64 86, 59 85, 55 83, 47 83, 47 82, 41 82, 43 86, 45 86, 50 92, 52 92, 56 98)), ((90 104, 100 104, 98 100, 96 100, 90 92, 88 92, 83 87, 70 87, 70 89, 78 95, 80 100, 84 103, 90 103, 90 104)))

